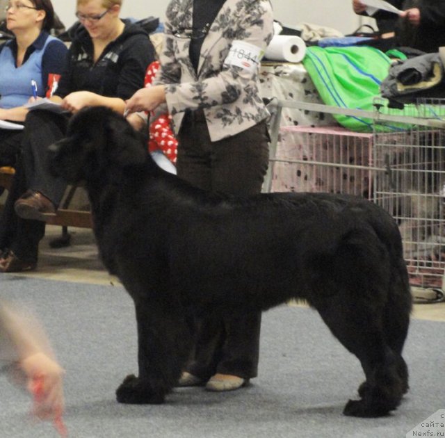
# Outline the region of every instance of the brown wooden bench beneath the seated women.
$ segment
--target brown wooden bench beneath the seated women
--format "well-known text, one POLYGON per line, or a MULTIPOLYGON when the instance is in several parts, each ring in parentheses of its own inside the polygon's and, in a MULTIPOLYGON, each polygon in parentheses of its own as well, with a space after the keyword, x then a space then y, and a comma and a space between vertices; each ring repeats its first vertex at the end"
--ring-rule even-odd
MULTIPOLYGON (((14 173, 15 170, 13 168, 0 168, 0 187, 9 190, 13 183, 14 173)), ((61 227, 92 228, 89 207, 87 206, 87 209, 79 209, 79 207, 73 205, 73 200, 78 190, 83 189, 77 186, 68 186, 56 213, 47 215, 47 224, 60 225, 61 227)))

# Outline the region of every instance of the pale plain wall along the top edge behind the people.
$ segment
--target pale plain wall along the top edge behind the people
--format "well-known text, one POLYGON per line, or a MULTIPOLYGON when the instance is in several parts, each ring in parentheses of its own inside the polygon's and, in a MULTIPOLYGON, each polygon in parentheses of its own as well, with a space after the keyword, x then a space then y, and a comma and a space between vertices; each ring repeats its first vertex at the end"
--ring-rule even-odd
MULTIPOLYGON (((56 13, 65 26, 74 21, 76 0, 52 0, 56 13)), ((354 31, 359 17, 352 11, 351 0, 271 0, 275 19, 283 24, 295 25, 302 22, 320 24, 338 29, 343 33, 354 31)), ((165 17, 169 0, 124 0, 122 17, 137 19, 153 15, 165 17)))

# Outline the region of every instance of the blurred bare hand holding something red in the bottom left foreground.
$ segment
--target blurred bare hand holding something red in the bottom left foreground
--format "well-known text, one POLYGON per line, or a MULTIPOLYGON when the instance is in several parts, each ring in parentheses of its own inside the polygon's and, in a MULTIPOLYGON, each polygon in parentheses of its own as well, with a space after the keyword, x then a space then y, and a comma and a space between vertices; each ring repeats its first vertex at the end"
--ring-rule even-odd
POLYGON ((20 367, 26 374, 27 389, 35 397, 33 413, 44 420, 59 419, 65 409, 63 368, 42 352, 23 359, 20 367))

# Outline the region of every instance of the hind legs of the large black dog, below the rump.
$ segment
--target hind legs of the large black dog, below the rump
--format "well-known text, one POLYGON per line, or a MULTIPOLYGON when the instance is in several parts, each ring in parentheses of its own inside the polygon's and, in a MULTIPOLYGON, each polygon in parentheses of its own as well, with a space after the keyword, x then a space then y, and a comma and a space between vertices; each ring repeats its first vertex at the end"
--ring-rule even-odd
POLYGON ((403 396, 403 379, 398 356, 385 340, 380 311, 372 311, 362 299, 345 302, 344 296, 332 297, 318 311, 334 336, 357 356, 366 375, 362 398, 349 400, 343 414, 378 417, 396 409, 403 396))

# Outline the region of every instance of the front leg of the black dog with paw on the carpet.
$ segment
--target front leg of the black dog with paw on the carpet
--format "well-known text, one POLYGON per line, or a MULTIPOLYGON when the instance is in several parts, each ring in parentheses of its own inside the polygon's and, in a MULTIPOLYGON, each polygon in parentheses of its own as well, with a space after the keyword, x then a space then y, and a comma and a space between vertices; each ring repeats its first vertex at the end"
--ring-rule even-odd
POLYGON ((128 375, 116 396, 119 403, 163 403, 188 358, 190 330, 179 309, 155 300, 136 303, 136 321, 139 375, 128 375))

